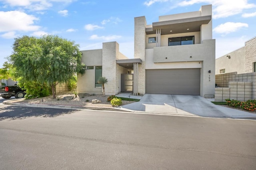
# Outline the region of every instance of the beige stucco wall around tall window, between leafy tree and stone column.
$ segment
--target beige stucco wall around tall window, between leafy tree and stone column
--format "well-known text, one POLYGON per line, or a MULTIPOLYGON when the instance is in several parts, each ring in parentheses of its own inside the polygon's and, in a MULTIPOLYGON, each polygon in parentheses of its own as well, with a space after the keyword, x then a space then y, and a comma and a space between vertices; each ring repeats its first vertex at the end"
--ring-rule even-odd
POLYGON ((94 69, 88 69, 84 75, 77 76, 77 91, 78 93, 101 94, 102 89, 95 87, 95 66, 102 66, 102 49, 81 52, 82 62, 86 66, 94 66, 94 69))

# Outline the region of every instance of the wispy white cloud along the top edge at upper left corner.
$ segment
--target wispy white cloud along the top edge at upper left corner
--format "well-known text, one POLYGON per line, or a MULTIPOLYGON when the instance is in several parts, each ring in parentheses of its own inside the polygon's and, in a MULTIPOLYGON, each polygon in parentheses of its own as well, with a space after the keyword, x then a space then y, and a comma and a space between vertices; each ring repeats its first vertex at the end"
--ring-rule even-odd
POLYGON ((69 4, 75 0, 0 0, 9 6, 18 6, 32 11, 46 10, 52 7, 52 3, 69 4))

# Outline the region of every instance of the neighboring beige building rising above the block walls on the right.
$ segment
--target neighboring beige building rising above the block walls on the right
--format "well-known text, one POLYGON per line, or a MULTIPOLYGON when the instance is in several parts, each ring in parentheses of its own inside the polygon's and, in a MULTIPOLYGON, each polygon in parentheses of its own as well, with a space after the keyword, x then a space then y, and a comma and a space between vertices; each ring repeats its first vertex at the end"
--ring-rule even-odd
POLYGON ((256 37, 241 47, 216 59, 215 74, 256 72, 256 37))

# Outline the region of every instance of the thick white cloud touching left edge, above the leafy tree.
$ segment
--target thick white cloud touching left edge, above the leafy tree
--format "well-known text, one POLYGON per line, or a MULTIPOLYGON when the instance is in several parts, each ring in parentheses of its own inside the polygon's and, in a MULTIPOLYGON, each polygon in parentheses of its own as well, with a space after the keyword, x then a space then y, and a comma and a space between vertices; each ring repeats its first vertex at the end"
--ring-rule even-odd
POLYGON ((0 32, 10 31, 37 31, 40 26, 35 26, 38 18, 20 11, 0 11, 0 32))

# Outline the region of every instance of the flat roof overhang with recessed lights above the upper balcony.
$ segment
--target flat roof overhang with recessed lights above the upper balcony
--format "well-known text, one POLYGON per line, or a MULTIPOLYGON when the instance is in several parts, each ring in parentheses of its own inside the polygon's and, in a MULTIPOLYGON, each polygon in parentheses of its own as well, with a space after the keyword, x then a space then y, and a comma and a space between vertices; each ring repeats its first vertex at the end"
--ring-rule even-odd
POLYGON ((208 24, 210 20, 212 20, 212 16, 199 16, 179 20, 153 22, 152 28, 146 28, 146 34, 156 34, 156 29, 161 29, 161 35, 199 32, 201 30, 201 25, 208 24))

